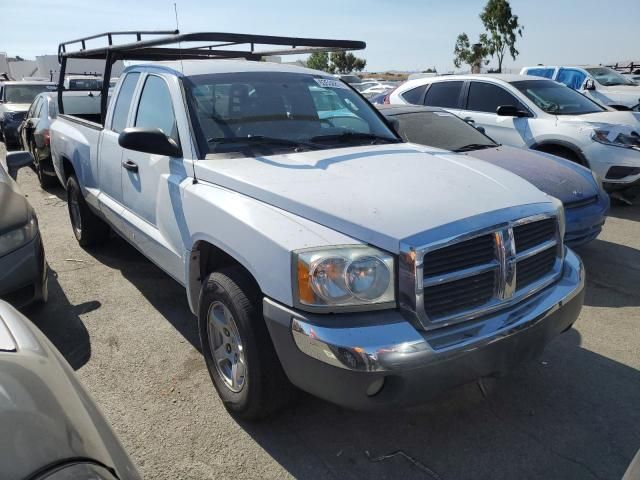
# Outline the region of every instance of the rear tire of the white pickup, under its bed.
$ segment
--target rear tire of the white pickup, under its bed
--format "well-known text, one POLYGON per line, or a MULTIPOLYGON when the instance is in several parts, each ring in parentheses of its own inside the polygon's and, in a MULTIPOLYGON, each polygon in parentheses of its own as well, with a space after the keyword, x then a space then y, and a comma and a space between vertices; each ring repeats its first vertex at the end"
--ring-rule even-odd
POLYGON ((81 247, 96 245, 109 238, 109 226, 91 211, 75 175, 67 179, 67 207, 73 234, 81 247))

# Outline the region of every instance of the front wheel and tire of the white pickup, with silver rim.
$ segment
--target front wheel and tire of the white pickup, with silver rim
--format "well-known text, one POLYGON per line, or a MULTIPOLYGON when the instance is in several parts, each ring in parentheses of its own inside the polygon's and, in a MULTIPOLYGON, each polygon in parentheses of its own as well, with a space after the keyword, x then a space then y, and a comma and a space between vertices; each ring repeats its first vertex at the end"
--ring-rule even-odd
POLYGON ((207 276, 198 324, 209 375, 229 413, 259 420, 290 402, 295 389, 271 343, 260 291, 244 269, 233 266, 207 276))

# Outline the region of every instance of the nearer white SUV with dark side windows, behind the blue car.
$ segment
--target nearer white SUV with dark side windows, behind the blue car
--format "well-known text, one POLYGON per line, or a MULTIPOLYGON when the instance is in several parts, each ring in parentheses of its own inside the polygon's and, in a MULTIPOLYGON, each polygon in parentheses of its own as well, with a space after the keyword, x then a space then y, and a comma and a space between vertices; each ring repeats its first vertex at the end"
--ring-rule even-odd
POLYGON ((395 104, 445 108, 495 140, 591 168, 608 190, 640 180, 640 114, 611 111, 551 80, 526 75, 453 75, 412 80, 395 104))

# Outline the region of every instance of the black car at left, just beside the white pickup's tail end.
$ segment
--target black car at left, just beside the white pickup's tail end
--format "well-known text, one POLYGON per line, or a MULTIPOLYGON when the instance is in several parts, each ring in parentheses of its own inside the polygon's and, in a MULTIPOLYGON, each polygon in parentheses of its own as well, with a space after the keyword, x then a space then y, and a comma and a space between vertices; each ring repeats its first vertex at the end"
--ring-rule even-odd
POLYGON ((49 137, 49 127, 56 114, 55 94, 40 93, 33 100, 19 128, 22 149, 33 155, 34 167, 42 188, 51 187, 58 183, 51 162, 49 137))

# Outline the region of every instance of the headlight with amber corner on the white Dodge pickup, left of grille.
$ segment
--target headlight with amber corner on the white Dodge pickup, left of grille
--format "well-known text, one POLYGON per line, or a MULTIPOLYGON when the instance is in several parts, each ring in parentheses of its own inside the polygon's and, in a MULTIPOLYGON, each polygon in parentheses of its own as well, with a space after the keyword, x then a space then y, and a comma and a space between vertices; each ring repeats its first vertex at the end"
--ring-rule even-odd
POLYGON ((303 307, 395 306, 394 258, 367 246, 293 252, 294 297, 303 307))

